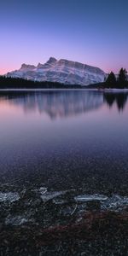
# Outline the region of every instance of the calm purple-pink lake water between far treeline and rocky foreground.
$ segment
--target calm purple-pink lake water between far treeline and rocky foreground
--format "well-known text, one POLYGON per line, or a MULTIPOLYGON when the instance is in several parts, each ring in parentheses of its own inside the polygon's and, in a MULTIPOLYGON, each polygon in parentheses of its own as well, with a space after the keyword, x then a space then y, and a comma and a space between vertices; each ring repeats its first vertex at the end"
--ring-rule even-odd
POLYGON ((128 96, 0 92, 1 183, 127 194, 128 96))

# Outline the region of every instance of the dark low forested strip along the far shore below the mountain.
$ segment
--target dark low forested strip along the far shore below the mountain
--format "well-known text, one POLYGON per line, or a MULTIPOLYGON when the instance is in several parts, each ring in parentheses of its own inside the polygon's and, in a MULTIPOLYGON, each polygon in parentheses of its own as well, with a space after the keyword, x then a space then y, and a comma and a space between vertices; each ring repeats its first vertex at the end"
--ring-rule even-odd
POLYGON ((100 90, 100 91, 128 91, 128 86, 108 86, 106 82, 98 84, 61 84, 56 82, 38 82, 19 78, 0 76, 0 91, 2 90, 100 90))

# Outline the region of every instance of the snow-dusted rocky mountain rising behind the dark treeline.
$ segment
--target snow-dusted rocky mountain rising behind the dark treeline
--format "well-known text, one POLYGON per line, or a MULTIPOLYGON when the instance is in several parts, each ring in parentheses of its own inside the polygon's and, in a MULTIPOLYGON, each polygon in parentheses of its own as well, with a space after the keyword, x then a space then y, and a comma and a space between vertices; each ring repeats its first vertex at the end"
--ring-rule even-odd
POLYGON ((96 84, 104 81, 106 73, 98 67, 91 67, 76 61, 59 60, 50 57, 38 66, 22 64, 19 70, 7 73, 7 77, 49 81, 62 84, 96 84))

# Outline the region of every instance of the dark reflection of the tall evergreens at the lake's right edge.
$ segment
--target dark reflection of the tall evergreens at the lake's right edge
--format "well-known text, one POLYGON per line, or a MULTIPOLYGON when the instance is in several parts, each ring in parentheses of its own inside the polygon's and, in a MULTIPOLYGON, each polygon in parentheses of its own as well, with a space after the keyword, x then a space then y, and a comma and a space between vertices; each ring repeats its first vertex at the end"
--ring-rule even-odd
POLYGON ((127 102, 127 93, 104 93, 104 102, 107 102, 108 106, 111 108, 113 103, 116 102, 118 110, 123 110, 125 108, 125 103, 127 102))

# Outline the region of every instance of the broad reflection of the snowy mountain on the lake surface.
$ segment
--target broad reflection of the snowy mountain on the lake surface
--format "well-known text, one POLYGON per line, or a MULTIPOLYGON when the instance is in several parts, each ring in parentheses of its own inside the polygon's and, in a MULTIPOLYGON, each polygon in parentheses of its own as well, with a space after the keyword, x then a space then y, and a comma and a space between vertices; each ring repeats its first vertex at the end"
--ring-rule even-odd
POLYGON ((50 119, 68 117, 99 108, 103 96, 88 90, 45 90, 45 91, 9 91, 0 93, 0 101, 20 106, 25 113, 47 113, 50 119))

